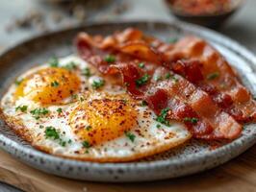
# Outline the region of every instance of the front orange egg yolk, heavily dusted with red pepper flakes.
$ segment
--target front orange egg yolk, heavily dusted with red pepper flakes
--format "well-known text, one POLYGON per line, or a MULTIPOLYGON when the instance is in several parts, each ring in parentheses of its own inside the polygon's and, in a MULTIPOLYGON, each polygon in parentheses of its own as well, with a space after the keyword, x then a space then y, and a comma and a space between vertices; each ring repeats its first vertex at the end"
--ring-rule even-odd
POLYGON ((81 139, 96 145, 113 140, 137 125, 138 112, 123 100, 92 100, 75 108, 70 126, 81 139))

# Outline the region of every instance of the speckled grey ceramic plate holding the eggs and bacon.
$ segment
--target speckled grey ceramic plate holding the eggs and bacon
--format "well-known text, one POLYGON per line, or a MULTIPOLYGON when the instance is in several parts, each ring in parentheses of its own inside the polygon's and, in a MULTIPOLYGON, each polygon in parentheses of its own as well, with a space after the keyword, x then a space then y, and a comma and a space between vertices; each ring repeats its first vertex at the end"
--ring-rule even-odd
MULTIPOLYGON (((128 22, 92 24, 68 29, 25 41, 0 57, 0 97, 15 77, 51 56, 64 57, 75 52, 72 40, 78 32, 112 34, 116 30, 137 27, 163 40, 193 34, 207 39, 236 67, 245 84, 255 95, 256 58, 233 40, 201 27, 184 23, 128 22)), ((186 146, 128 163, 95 163, 50 156, 32 148, 0 122, 0 146, 15 158, 41 171, 76 180, 142 181, 176 178, 201 172, 239 156, 256 142, 256 126, 244 126, 243 135, 213 150, 205 143, 192 140, 186 146)))

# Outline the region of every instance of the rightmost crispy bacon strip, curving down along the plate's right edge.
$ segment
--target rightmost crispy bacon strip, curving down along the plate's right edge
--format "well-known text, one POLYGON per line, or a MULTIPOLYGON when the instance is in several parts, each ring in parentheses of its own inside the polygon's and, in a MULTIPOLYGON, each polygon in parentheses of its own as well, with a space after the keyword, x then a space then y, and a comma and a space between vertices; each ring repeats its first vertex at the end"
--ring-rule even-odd
POLYGON ((170 61, 198 60, 202 65, 201 84, 212 87, 209 93, 213 93, 212 96, 217 103, 220 103, 220 107, 240 122, 256 121, 256 102, 250 92, 240 83, 237 73, 228 62, 206 41, 195 36, 184 37, 172 50, 166 52, 166 55, 170 61), (208 80, 213 74, 218 74, 218 77, 208 80), (228 106, 222 105, 228 103, 230 104, 228 106))

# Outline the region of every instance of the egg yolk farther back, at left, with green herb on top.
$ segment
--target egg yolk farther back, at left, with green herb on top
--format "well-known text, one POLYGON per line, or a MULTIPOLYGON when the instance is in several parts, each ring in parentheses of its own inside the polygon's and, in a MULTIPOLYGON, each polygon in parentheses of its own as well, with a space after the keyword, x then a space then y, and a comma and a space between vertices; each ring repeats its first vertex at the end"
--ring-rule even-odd
POLYGON ((40 104, 57 104, 75 93, 80 79, 64 68, 44 68, 26 77, 19 84, 14 98, 26 97, 40 104))

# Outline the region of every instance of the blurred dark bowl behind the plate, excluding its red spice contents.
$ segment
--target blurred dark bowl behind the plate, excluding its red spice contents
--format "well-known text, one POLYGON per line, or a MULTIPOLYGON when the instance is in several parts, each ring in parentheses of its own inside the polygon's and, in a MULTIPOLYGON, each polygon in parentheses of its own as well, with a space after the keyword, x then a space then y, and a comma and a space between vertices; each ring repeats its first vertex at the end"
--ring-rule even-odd
POLYGON ((224 12, 204 14, 192 14, 188 12, 182 12, 181 10, 177 10, 173 6, 173 2, 173 0, 166 0, 166 5, 168 6, 170 12, 178 19, 209 28, 218 28, 231 15, 233 15, 242 7, 244 0, 231 0, 230 9, 224 12))

